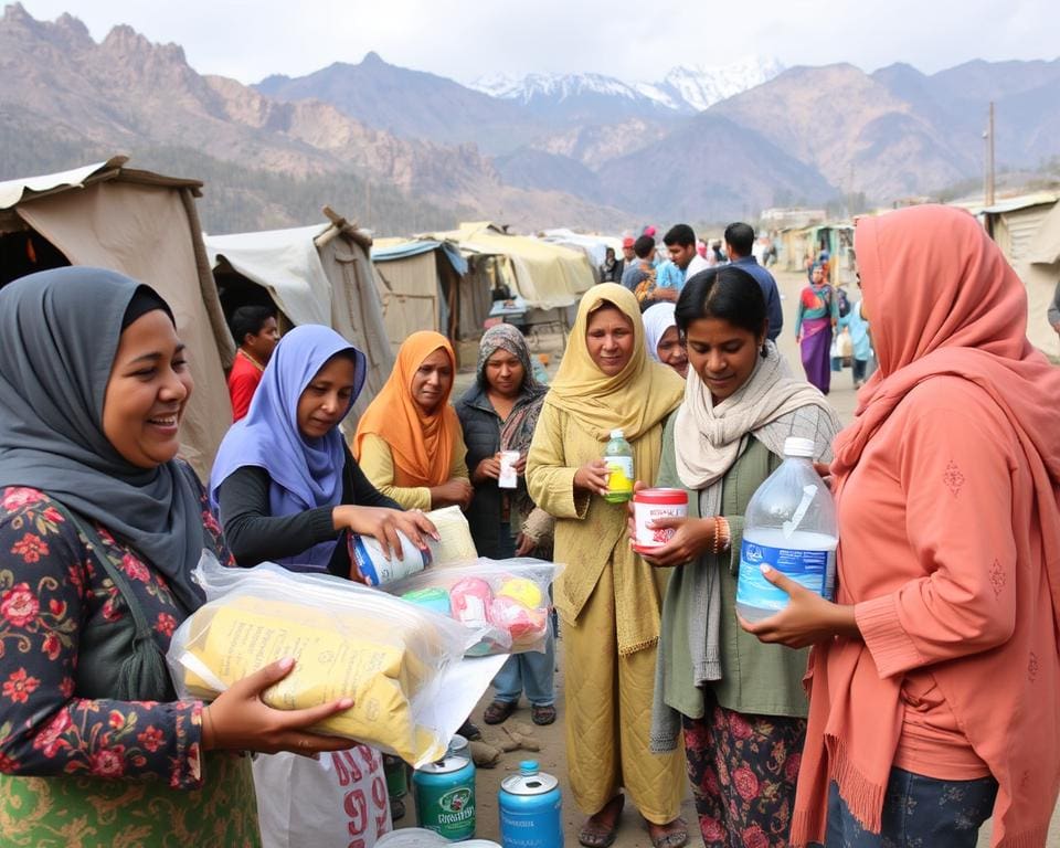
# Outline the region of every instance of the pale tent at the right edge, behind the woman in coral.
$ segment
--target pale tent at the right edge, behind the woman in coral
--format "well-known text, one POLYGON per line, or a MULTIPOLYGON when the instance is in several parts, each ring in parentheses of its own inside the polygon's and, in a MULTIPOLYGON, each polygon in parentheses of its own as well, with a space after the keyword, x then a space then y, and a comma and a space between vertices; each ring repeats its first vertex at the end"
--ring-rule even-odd
POLYGON ((973 208, 1027 286, 1027 337, 1056 357, 1060 343, 1046 319, 1060 280, 1060 193, 1036 192, 973 208))

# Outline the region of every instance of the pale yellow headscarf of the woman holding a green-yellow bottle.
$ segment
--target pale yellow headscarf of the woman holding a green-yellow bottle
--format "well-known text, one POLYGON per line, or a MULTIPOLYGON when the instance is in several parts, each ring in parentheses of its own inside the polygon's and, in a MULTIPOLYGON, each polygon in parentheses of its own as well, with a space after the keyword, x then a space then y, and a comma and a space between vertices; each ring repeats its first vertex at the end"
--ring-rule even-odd
MULTIPOLYGON (((662 421, 681 402, 685 381, 671 368, 651 362, 644 344, 640 307, 633 293, 615 283, 593 286, 577 308, 574 329, 545 403, 563 410, 586 432, 606 442, 621 428, 630 443, 662 421), (607 377, 589 354, 585 332, 590 316, 614 306, 633 326, 634 349, 628 364, 607 377)), ((638 462, 639 457, 634 456, 638 462)), ((651 467, 658 466, 658 457, 651 467)), ((639 469, 642 466, 637 465, 639 469)))

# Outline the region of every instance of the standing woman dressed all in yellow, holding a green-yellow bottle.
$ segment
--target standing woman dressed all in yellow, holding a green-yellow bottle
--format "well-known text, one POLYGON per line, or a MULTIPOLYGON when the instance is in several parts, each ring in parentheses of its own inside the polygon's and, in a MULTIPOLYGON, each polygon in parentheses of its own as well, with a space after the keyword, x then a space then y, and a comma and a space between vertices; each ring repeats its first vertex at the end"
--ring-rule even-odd
POLYGON ((685 382, 645 351, 636 298, 594 286, 545 398, 527 459, 530 497, 556 518, 555 585, 566 650, 566 749, 574 799, 589 820, 585 846, 615 839, 625 786, 656 848, 678 848, 681 752, 648 750, 665 577, 630 549, 626 505, 610 504, 602 456, 612 430, 633 447, 638 480, 655 483, 662 425, 685 382))

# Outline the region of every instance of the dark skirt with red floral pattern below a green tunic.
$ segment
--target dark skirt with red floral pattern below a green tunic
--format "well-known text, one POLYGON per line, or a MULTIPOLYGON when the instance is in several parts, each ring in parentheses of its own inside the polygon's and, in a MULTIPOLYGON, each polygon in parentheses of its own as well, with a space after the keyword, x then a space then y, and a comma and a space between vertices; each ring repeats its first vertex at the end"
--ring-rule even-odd
POLYGON ((727 710, 708 693, 703 718, 683 728, 703 845, 786 846, 806 720, 727 710))

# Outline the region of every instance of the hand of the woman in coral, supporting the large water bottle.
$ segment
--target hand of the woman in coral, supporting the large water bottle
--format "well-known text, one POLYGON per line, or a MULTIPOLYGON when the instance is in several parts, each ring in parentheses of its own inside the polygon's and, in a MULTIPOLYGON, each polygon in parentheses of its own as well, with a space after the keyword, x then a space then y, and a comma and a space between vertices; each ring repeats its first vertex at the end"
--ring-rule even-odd
POLYGON ((805 648, 818 642, 825 642, 833 636, 849 636, 858 638, 858 629, 854 617, 854 606, 834 604, 826 601, 816 592, 810 592, 791 577, 781 574, 776 569, 763 566, 762 574, 770 583, 787 593, 787 606, 778 613, 753 624, 742 616, 740 626, 748 633, 757 636, 760 642, 780 643, 789 648, 805 648))

